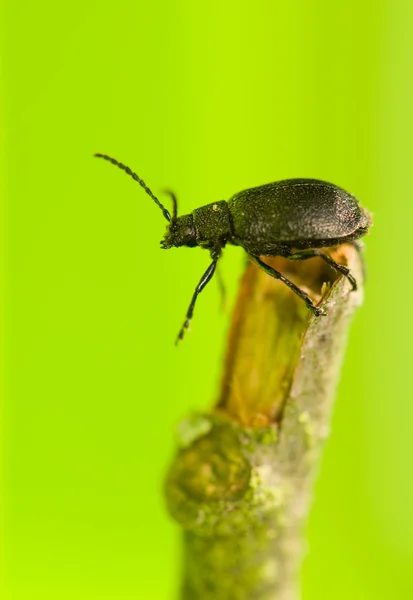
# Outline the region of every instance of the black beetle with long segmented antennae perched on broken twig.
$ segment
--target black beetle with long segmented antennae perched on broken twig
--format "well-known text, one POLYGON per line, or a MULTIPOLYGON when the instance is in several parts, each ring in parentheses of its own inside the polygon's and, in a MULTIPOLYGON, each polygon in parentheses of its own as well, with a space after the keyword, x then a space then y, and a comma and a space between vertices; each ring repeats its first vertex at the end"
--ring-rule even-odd
POLYGON ((241 246, 265 273, 281 280, 319 317, 325 311, 316 306, 302 289, 266 264, 261 256, 283 256, 291 260, 320 257, 349 280, 357 282, 349 269, 337 263, 321 248, 352 243, 372 225, 370 213, 358 200, 332 183, 318 179, 286 179, 243 190, 228 201, 220 200, 178 217, 178 203, 172 192, 172 215, 145 182, 129 167, 107 154, 95 154, 130 175, 161 209, 168 221, 161 247, 200 246, 209 250, 212 262, 195 288, 176 343, 182 340, 194 314, 199 294, 211 281, 226 244, 241 246))

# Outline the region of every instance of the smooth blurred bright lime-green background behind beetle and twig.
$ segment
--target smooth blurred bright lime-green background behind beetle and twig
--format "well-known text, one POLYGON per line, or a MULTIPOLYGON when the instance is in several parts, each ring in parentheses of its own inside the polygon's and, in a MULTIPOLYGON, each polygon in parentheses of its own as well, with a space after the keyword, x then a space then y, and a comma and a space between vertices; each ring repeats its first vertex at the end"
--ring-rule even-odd
MULTIPOLYGON (((176 424, 214 399, 228 314, 212 283, 174 347, 209 257, 160 251, 160 211, 104 152, 175 190, 180 212, 287 177, 373 212, 303 596, 412 598, 413 4, 1 10, 1 597, 177 597, 162 480, 176 424)), ((223 262, 234 297, 242 251, 223 262)))

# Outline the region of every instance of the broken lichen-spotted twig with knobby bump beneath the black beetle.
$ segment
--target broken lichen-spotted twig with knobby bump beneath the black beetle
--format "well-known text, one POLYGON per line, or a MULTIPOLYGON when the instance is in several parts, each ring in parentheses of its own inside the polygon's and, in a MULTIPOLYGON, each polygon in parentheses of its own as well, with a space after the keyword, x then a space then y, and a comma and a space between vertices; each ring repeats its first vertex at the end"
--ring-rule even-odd
POLYGON ((265 260, 327 312, 314 317, 284 284, 250 264, 228 339, 221 391, 209 414, 181 423, 166 481, 184 537, 184 600, 295 600, 304 525, 329 434, 349 321, 362 300, 353 246, 318 258, 265 260))

